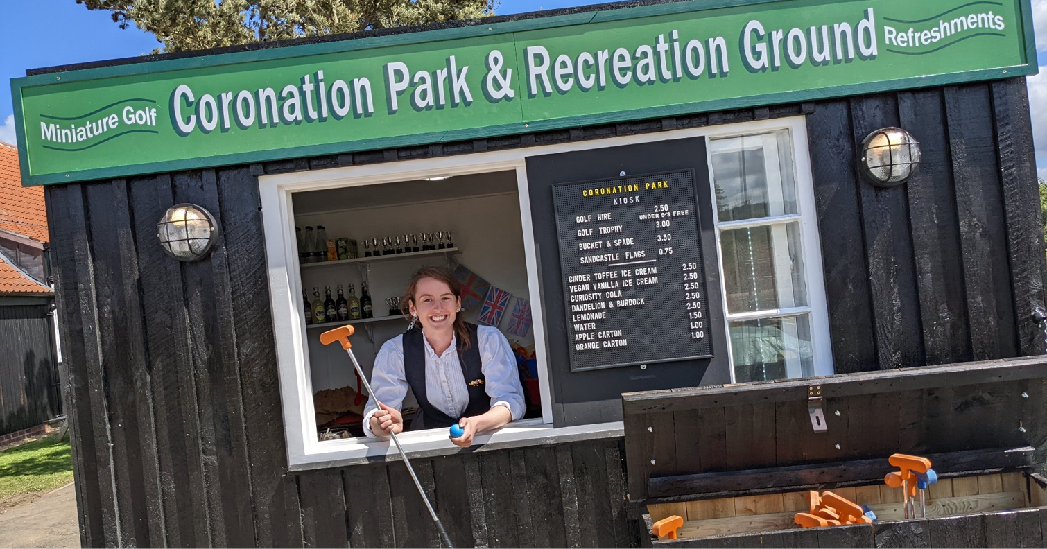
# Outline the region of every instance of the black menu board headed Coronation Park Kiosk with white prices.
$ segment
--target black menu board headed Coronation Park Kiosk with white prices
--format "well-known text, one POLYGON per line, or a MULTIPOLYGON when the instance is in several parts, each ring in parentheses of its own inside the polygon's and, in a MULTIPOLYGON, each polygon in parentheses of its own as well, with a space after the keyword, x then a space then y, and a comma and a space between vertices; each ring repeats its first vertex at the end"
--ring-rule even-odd
POLYGON ((553 185, 572 371, 712 356, 691 170, 553 185))

